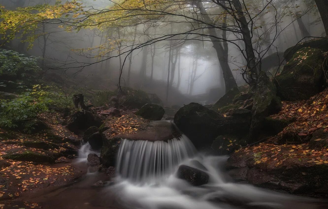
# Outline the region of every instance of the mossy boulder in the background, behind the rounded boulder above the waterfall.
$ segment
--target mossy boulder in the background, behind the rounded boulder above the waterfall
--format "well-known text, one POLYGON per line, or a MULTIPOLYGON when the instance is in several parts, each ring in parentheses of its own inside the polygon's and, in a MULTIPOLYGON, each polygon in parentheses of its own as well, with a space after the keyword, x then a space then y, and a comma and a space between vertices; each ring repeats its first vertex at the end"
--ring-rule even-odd
POLYGON ((120 105, 126 106, 128 109, 140 109, 143 105, 151 103, 151 99, 148 94, 140 89, 133 89, 129 87, 117 89, 114 93, 120 95, 118 102, 120 105))

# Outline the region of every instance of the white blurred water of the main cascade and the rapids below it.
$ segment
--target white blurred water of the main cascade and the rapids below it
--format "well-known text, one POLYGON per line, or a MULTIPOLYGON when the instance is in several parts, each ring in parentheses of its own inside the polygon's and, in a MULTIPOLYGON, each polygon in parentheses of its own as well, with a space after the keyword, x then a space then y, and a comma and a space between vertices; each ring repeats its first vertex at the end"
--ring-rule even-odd
POLYGON ((124 140, 114 191, 131 209, 321 209, 313 200, 234 183, 224 174, 226 157, 198 154, 187 137, 166 142, 124 140), (153 166, 153 163, 157 165, 153 166), (163 164, 161 164, 163 163, 163 164), (195 187, 176 178, 179 164, 210 175, 208 184, 195 187))

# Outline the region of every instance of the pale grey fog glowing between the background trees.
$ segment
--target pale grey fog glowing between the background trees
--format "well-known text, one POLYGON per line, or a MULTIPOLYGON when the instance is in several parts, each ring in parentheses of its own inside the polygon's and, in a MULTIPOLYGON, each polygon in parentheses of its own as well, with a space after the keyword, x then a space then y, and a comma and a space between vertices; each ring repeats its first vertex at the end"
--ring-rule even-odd
MULTIPOLYGON (((108 0, 78 2, 83 3, 84 11, 94 13, 101 13, 103 9, 122 3, 108 0)), ((247 2, 252 15, 266 9, 267 1, 247 2)), ((6 9, 55 3, 55 0, 0 0, 6 9)), ((275 73, 277 66, 283 63, 281 53, 288 47, 294 46, 306 36, 325 35, 314 1, 276 0, 272 4, 275 7, 266 9, 265 13, 254 18, 252 30, 252 42, 259 52, 256 54, 258 58, 263 60, 278 52, 279 57, 272 56, 265 63, 262 62, 262 66, 266 67, 262 70, 272 70, 268 75, 275 73)), ((213 24, 222 21, 222 18, 215 19, 215 15, 222 14, 222 8, 206 1, 203 6, 207 16, 213 18, 213 24)), ((114 90, 120 81, 121 86, 157 94, 165 105, 214 103, 226 90, 214 42, 204 24, 200 24, 206 22, 206 17, 200 17, 201 12, 193 11, 195 8, 191 4, 181 11, 178 11, 178 6, 174 8, 177 14, 191 16, 195 21, 180 15, 161 14, 154 17, 149 14, 149 17, 123 18, 107 25, 90 24, 92 26, 84 25, 78 29, 68 28, 70 24, 65 20, 62 20, 62 24, 47 21, 35 30, 37 37, 32 42, 33 46, 29 47, 28 42, 22 43, 31 34, 17 34, 16 39, 5 47, 28 56, 41 57, 39 62, 45 70, 42 76, 56 74, 87 89, 114 90)), ((83 18, 81 16, 83 14, 77 14, 76 19, 83 18)), ((231 26, 235 24, 229 17, 226 23, 231 26)), ((246 81, 241 75, 247 66, 243 40, 240 34, 234 32, 234 27, 228 28, 226 38, 219 28, 215 28, 218 37, 228 40, 224 42, 228 47, 228 57, 224 59, 232 70, 236 84, 245 85, 246 81)), ((217 41, 224 45, 220 39, 217 41)))

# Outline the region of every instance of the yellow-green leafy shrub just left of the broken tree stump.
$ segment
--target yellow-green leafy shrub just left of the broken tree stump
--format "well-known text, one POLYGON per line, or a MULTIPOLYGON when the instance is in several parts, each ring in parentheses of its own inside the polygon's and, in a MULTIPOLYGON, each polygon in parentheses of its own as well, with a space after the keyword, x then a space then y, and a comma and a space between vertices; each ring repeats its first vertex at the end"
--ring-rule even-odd
POLYGON ((55 106, 61 108, 71 109, 72 99, 56 86, 37 84, 33 85, 31 95, 41 103, 48 106, 55 106))

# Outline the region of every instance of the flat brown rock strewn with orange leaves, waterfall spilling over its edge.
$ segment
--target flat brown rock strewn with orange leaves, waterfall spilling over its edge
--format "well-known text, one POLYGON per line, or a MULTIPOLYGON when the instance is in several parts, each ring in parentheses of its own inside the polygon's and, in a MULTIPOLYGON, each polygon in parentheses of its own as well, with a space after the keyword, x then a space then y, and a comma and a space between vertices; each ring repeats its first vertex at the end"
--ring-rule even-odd
POLYGON ((103 139, 101 163, 107 167, 115 165, 116 154, 122 139, 168 141, 181 136, 174 124, 170 122, 149 121, 134 114, 124 115, 121 118, 113 117, 106 120, 103 126, 115 127, 101 133, 103 139))

